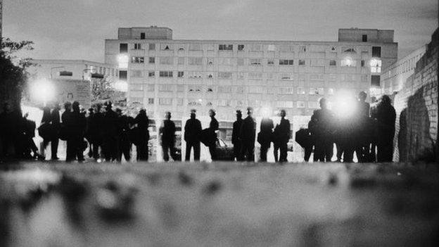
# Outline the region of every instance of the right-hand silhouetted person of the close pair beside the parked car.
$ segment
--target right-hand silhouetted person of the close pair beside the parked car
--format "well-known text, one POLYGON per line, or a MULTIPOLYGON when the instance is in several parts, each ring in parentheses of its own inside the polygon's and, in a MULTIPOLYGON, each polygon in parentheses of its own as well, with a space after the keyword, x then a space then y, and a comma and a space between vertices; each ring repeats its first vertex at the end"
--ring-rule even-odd
POLYGON ((247 108, 247 118, 244 118, 239 137, 241 138, 241 157, 247 161, 255 161, 256 122, 253 119, 253 108, 247 108))

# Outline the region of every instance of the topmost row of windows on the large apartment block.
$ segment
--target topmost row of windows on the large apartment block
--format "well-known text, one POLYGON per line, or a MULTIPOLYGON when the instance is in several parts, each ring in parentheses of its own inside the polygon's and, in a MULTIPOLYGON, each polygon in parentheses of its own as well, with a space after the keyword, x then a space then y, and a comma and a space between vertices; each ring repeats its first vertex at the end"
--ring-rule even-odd
MULTIPOLYGON (((149 51, 155 51, 157 49, 156 46, 160 46, 159 49, 161 51, 173 51, 174 49, 177 49, 178 51, 184 51, 186 45, 184 44, 143 44, 143 43, 135 43, 132 44, 132 49, 135 50, 141 50, 141 49, 148 49, 149 51), (175 46, 175 47, 174 47, 175 46)), ((217 47, 218 51, 233 51, 234 50, 234 44, 205 44, 205 49, 208 51, 215 51, 215 46, 217 47)), ((310 48, 307 49, 307 46, 305 45, 299 45, 298 46, 298 52, 306 52, 307 50, 322 52, 322 51, 332 51, 337 52, 336 46, 309 46, 310 48)), ((293 52, 295 46, 293 45, 275 45, 275 44, 268 44, 268 45, 262 45, 262 44, 237 44, 236 49, 237 51, 286 51, 286 52, 293 52)), ((204 44, 196 43, 196 44, 189 44, 189 51, 203 51, 204 50, 204 44)), ((357 53, 357 49, 353 46, 341 46, 341 51, 343 53, 357 53)), ((127 53, 128 52, 128 44, 127 43, 121 43, 120 44, 120 53, 127 53)), ((364 50, 362 51, 364 52, 364 50)), ((367 52, 367 51, 366 51, 367 52)), ((381 46, 372 46, 372 56, 375 58, 381 58, 381 46)))

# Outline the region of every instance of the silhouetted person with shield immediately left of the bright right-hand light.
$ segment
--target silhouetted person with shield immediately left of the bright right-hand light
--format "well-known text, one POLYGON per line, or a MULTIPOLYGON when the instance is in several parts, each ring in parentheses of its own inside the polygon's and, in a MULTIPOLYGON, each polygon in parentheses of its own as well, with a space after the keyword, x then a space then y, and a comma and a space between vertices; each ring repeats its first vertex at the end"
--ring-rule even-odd
POLYGON ((310 131, 314 135, 314 161, 331 162, 333 156, 334 115, 326 99, 319 100, 320 109, 311 116, 310 131))

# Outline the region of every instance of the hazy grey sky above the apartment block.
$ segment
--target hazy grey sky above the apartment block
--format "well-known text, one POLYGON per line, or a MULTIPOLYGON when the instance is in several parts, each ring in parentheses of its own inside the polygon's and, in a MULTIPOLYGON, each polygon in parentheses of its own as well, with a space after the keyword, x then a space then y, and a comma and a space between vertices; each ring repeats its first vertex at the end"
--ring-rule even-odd
POLYGON ((395 30, 399 57, 430 42, 438 0, 4 0, 4 37, 34 58, 103 61, 117 27, 170 27, 174 39, 336 41, 338 28, 395 30))

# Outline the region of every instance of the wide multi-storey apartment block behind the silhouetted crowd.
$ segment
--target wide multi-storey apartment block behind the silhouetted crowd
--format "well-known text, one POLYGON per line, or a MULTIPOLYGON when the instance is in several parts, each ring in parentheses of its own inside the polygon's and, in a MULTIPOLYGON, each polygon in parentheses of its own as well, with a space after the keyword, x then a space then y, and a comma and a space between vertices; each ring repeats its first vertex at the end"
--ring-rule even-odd
POLYGON ((128 82, 127 99, 153 118, 191 108, 233 121, 236 109, 311 115, 318 99, 380 86, 397 61, 393 30, 341 29, 338 42, 172 39, 167 27, 119 28, 106 39, 105 63, 128 82))

